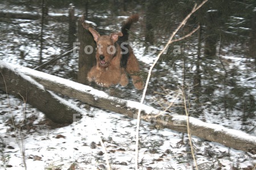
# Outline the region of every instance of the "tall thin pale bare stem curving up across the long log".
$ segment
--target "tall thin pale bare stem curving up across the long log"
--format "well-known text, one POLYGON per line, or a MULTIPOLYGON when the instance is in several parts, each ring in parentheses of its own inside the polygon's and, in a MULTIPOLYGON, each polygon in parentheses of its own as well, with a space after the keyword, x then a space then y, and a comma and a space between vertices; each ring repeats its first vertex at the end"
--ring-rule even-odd
MULTIPOLYGON (((150 70, 148 71, 148 76, 147 76, 147 80, 146 80, 146 84, 145 84, 145 87, 144 87, 144 90, 143 90, 143 94, 142 94, 142 99, 141 99, 141 105, 143 104, 143 101, 145 99, 145 96, 146 96, 146 91, 147 91, 147 87, 148 87, 148 83, 149 83, 149 80, 150 80, 150 76, 151 76, 151 73, 152 73, 152 70, 154 68, 154 66, 156 65, 156 62, 158 62, 158 59, 160 58, 160 56, 162 56, 162 54, 166 51, 166 49, 168 48, 168 46, 174 42, 174 36, 176 35, 176 33, 180 30, 181 27, 183 27, 188 19, 190 18, 190 16, 196 12, 201 6, 204 5, 205 2, 207 2, 208 0, 205 0, 203 1, 199 6, 195 5, 192 9, 192 11, 187 15, 187 17, 185 19, 183 19, 183 21, 181 22, 181 24, 175 29, 175 31, 172 33, 170 39, 168 40, 166 46, 164 46, 164 48, 162 49, 162 51, 158 54, 158 56, 156 57, 154 63, 152 64, 152 66, 150 67, 150 70)), ((198 28, 197 28, 198 29, 198 28)), ((192 32, 195 32, 195 31, 192 31, 192 32)), ((192 33, 191 33, 192 35, 192 33)), ((183 40, 187 37, 184 36, 184 37, 181 37, 180 40, 183 40)), ((138 109, 138 117, 137 117, 137 128, 136 128, 136 144, 135 144, 135 169, 137 170, 138 169, 138 155, 139 155, 139 124, 141 122, 141 106, 139 107, 138 109)))

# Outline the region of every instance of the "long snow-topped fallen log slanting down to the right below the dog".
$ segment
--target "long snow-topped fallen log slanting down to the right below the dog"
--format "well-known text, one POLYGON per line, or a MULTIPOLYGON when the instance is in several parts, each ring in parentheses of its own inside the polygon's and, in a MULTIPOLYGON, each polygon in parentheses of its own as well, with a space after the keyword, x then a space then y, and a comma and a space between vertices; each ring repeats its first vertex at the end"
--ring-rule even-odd
MULTIPOLYGON (((47 90, 57 92, 62 95, 73 97, 95 107, 106 109, 137 118, 139 107, 142 108, 142 120, 156 128, 168 128, 182 133, 187 133, 187 116, 163 113, 150 106, 140 104, 135 101, 123 100, 109 96, 105 92, 96 90, 71 80, 42 73, 40 71, 28 69, 22 66, 11 65, 19 73, 31 76, 47 90)), ((222 145, 242 150, 246 152, 256 152, 256 137, 239 130, 232 130, 221 125, 209 124, 196 118, 189 117, 190 132, 199 138, 208 141, 218 142, 222 145)))

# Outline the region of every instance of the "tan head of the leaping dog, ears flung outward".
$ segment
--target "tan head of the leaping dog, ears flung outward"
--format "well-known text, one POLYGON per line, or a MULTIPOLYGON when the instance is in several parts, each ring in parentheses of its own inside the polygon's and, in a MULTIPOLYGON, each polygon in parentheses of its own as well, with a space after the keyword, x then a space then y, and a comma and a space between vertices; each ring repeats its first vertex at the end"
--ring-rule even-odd
POLYGON ((99 67, 109 67, 112 58, 116 54, 117 47, 115 42, 119 36, 123 36, 122 32, 111 33, 108 35, 100 35, 95 29, 89 27, 90 33, 92 33, 94 41, 97 43, 96 59, 99 67))

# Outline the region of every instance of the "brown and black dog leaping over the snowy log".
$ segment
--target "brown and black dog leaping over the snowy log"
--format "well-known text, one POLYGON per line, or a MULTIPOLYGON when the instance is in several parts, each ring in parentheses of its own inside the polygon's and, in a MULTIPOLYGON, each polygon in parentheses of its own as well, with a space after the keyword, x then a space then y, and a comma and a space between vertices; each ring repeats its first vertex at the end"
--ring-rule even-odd
POLYGON ((131 24, 137 22, 138 15, 131 15, 122 24, 122 31, 108 35, 100 35, 95 29, 88 28, 97 42, 97 65, 88 73, 89 82, 96 82, 100 86, 109 87, 114 84, 127 86, 127 74, 133 79, 138 90, 144 88, 143 80, 139 76, 139 62, 133 50, 127 44, 131 24))

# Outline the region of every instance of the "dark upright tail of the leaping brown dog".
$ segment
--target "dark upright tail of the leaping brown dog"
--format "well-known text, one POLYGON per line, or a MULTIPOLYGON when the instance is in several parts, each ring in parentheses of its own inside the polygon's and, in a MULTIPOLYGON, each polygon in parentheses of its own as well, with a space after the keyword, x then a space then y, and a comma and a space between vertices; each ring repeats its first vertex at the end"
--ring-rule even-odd
POLYGON ((138 22, 139 15, 133 14, 126 21, 123 22, 121 31, 123 33, 122 37, 119 37, 119 41, 127 41, 129 36, 129 29, 131 28, 131 24, 138 22))

